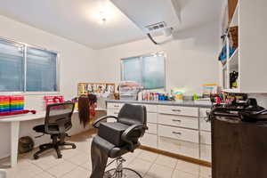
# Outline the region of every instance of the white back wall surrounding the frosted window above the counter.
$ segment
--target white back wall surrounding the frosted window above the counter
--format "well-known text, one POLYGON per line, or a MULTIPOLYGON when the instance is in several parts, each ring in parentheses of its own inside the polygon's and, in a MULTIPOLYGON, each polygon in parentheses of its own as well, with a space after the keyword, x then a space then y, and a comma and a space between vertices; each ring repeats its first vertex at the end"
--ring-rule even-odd
MULTIPOLYGON (((218 43, 219 25, 211 22, 202 27, 180 31, 175 40, 155 45, 149 39, 121 44, 100 51, 101 79, 105 82, 120 81, 120 59, 145 53, 164 51, 166 59, 166 88, 186 88, 186 94, 201 92, 206 83, 219 83, 218 43)), ((123 35, 123 34, 122 34, 123 35)), ((163 41, 162 37, 156 41, 163 41)))

